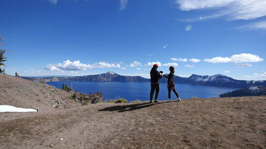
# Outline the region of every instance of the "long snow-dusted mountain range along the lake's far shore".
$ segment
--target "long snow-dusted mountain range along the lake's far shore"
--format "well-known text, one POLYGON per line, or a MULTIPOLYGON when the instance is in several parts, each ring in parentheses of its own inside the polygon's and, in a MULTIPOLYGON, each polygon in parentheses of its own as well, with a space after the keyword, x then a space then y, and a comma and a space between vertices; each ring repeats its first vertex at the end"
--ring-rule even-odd
MULTIPOLYGON (((92 82, 105 82, 105 81, 117 81, 117 82, 149 82, 150 79, 141 76, 125 76, 118 75, 114 72, 107 72, 99 75, 84 75, 84 76, 71 76, 71 77, 23 77, 32 81, 92 81, 92 82)), ((246 81, 236 80, 225 75, 191 75, 190 77, 180 77, 175 75, 174 80, 176 83, 184 84, 196 84, 204 86, 219 86, 219 87, 236 87, 245 88, 249 86, 266 86, 266 80, 264 81, 246 81)), ((160 82, 164 83, 167 79, 163 77, 160 82)))

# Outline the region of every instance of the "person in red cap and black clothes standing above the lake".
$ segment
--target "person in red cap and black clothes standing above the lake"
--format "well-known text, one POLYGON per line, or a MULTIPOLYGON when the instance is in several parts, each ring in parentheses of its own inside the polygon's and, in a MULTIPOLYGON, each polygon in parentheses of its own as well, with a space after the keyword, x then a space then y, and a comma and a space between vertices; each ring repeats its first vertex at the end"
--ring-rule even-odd
POLYGON ((163 72, 158 72, 157 68, 158 68, 158 65, 154 64, 153 68, 150 71, 150 75, 151 75, 150 103, 153 100, 153 95, 154 95, 155 90, 156 90, 156 94, 155 94, 154 102, 159 102, 159 100, 158 100, 158 95, 159 95, 159 91, 160 91, 159 79, 162 78, 162 75, 160 73, 163 74, 163 72))

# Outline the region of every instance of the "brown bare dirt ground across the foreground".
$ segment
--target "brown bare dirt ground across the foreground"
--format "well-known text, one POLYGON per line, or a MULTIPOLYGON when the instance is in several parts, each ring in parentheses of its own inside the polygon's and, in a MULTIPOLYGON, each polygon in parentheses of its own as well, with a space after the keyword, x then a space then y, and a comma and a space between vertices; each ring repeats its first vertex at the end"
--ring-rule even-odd
POLYGON ((266 149, 266 97, 0 113, 0 149, 51 148, 266 149))

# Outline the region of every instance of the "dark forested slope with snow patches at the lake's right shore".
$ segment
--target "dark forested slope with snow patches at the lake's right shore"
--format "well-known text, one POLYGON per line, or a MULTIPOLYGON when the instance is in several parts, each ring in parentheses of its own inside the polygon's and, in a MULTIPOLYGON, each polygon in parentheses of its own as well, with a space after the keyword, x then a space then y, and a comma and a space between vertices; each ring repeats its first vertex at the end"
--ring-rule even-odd
POLYGON ((220 97, 242 97, 242 96, 265 96, 266 87, 250 86, 244 89, 235 90, 219 95, 220 97))

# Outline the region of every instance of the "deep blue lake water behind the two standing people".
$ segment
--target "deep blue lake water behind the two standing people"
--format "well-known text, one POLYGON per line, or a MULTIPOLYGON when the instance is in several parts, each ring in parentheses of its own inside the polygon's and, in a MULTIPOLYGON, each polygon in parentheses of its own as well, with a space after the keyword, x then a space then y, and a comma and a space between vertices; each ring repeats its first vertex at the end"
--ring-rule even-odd
MULTIPOLYGON (((89 94, 90 91, 96 93, 100 91, 103 99, 125 98, 129 101, 140 99, 149 100, 150 83, 149 82, 83 82, 83 81, 62 81, 62 82, 47 82, 47 84, 61 88, 65 83, 71 86, 74 90, 89 94)), ((181 99, 190 99, 191 97, 213 98, 219 97, 220 94, 237 90, 238 88, 229 87, 213 87, 190 84, 176 84, 176 90, 181 99)), ((175 95, 171 94, 172 99, 176 99, 175 95)), ((161 100, 168 99, 168 91, 166 83, 160 83, 159 98, 161 100)))

